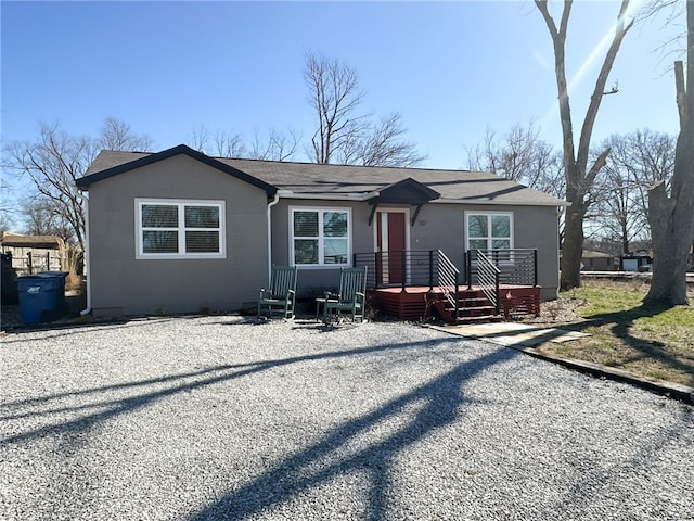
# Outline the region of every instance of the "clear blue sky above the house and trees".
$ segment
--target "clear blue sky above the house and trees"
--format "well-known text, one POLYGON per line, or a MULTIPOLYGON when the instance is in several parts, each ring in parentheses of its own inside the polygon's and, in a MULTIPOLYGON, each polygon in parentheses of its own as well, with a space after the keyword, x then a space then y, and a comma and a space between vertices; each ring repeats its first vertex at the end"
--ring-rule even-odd
MULTIPOLYGON (((569 77, 617 10, 617 1, 576 2, 569 77)), ((465 167, 465 148, 487 126, 503 134, 535 119, 543 139, 561 142, 551 40, 530 0, 2 1, 1 16, 5 143, 35 139, 40 122, 95 136, 107 116, 149 135, 155 150, 190 141, 201 125, 247 138, 292 127, 308 143, 307 51, 358 72, 365 112, 399 112, 407 138, 428 156, 423 166, 465 167)), ((674 58, 657 52, 669 33, 653 21, 627 36, 607 84, 617 80, 619 93, 604 99, 595 138, 677 131, 674 58)), ((569 92, 577 128, 596 67, 569 92)))

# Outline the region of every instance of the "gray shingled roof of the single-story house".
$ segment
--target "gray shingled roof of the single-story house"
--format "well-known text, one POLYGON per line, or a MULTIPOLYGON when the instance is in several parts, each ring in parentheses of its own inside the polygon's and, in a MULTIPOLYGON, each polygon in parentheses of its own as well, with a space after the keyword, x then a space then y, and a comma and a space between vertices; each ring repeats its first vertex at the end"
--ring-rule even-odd
MULTIPOLYGON (((125 171, 127 167, 124 168, 124 165, 127 163, 151 155, 157 154, 102 151, 87 170, 83 181, 78 181, 78 185, 89 186, 89 176, 93 176, 94 180, 108 177, 107 170, 112 170, 114 175, 125 171)), ((433 201, 435 203, 539 206, 567 204, 561 199, 486 171, 322 165, 226 157, 213 160, 277 187, 282 196, 365 200, 389 185, 412 178, 440 193, 441 196, 433 201)))

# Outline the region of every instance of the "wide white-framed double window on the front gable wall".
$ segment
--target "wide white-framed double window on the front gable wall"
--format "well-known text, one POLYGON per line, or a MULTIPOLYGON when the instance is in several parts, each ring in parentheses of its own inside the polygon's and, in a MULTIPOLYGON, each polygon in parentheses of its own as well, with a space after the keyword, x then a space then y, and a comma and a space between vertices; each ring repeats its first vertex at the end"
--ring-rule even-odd
POLYGON ((224 202, 136 200, 136 258, 223 258, 224 202))

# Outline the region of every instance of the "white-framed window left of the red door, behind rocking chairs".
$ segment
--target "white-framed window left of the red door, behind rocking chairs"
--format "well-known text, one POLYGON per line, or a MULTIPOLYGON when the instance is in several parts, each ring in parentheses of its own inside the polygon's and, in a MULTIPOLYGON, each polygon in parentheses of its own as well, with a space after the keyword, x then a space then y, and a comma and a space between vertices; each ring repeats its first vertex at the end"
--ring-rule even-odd
POLYGON ((349 208, 290 208, 291 258, 295 266, 348 266, 349 208))

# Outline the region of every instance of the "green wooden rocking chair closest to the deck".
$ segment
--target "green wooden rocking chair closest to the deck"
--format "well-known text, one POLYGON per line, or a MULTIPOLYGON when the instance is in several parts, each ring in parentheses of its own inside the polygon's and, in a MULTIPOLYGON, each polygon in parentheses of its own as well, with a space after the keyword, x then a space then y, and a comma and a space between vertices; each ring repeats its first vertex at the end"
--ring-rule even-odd
POLYGON ((323 322, 339 321, 349 315, 352 322, 364 322, 367 294, 367 267, 343 268, 339 274, 339 292, 325 292, 323 322))

